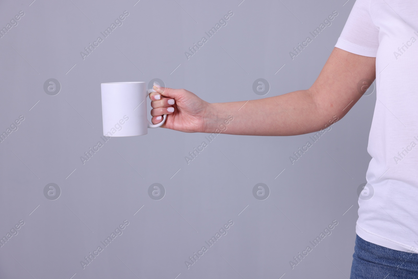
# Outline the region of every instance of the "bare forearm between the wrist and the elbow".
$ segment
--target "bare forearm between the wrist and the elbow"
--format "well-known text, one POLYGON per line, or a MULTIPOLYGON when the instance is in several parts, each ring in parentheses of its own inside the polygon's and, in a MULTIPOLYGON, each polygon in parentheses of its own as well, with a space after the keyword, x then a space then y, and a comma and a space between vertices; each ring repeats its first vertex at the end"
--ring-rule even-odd
POLYGON ((319 131, 338 120, 316 105, 309 90, 209 107, 205 133, 224 130, 222 133, 233 135, 292 136, 319 131))

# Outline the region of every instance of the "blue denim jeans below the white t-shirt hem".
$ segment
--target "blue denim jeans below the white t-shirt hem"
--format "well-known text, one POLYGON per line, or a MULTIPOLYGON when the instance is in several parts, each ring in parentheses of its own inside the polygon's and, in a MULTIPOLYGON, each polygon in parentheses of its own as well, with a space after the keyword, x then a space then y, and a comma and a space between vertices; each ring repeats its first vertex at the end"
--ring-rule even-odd
POLYGON ((402 252, 356 237, 350 279, 417 279, 418 254, 402 252))

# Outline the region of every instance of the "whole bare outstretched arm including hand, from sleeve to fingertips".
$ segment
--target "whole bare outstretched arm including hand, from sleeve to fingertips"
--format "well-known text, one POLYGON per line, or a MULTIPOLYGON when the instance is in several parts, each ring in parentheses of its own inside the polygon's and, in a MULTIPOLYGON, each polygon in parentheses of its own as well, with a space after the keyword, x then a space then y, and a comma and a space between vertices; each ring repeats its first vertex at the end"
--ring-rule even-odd
POLYGON ((316 132, 328 127, 333 119, 343 118, 362 97, 358 83, 375 80, 375 64, 375 57, 334 48, 309 89, 250 101, 209 103, 184 89, 154 86, 156 92, 149 95, 152 123, 160 123, 161 115, 167 114, 163 128, 215 133, 232 115, 233 121, 222 133, 292 136, 316 132))

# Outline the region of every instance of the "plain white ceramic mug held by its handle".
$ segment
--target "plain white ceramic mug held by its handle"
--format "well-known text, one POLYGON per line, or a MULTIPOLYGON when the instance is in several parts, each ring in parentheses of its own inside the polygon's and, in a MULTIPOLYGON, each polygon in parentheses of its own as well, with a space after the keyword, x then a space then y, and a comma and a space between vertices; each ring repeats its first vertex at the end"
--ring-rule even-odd
POLYGON ((110 137, 142 136, 148 128, 158 128, 147 118, 147 97, 150 92, 145 82, 105 82, 102 87, 103 135, 110 137))

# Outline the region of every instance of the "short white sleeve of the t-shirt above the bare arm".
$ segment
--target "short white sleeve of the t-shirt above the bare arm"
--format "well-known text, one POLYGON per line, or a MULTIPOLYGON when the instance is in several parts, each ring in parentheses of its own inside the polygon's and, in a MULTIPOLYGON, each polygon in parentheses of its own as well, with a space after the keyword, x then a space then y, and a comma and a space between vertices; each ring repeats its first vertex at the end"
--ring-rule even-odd
POLYGON ((376 57, 379 29, 370 15, 370 0, 357 0, 335 47, 354 54, 376 57))

